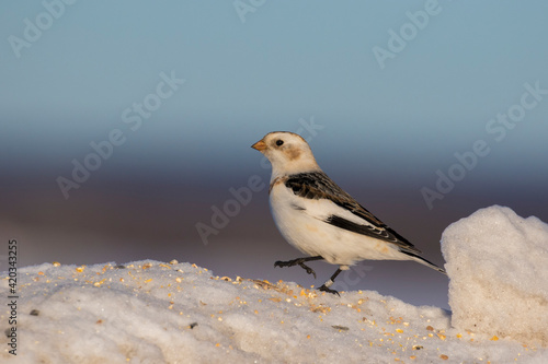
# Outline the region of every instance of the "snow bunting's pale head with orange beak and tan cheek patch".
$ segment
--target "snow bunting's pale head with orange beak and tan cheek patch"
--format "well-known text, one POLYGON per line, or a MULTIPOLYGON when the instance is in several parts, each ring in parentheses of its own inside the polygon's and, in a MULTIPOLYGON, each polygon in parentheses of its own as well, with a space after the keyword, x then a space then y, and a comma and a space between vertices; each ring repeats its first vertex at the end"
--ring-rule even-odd
POLYGON ((272 164, 273 178, 320 169, 306 140, 293 132, 270 132, 251 148, 269 158, 272 164))

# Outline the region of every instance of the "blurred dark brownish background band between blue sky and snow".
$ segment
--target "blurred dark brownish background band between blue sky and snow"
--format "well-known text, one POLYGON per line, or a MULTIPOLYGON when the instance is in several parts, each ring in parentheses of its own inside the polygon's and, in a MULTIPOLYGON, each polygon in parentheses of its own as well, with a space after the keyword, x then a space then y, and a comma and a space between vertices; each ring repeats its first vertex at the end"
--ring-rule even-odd
MULTIPOLYGON (((248 168, 249 176, 256 172, 267 181, 270 171, 256 169, 248 168)), ((275 260, 294 259, 301 254, 277 232, 266 188, 252 192, 248 204, 226 216, 228 223, 220 228, 217 225, 217 234, 201 237, 196 224, 213 227, 212 208, 216 206, 216 211, 222 211, 226 201, 236 201, 229 190, 244 187, 244 177, 231 180, 232 185, 216 179, 218 185, 195 186, 90 181, 68 200, 55 188, 14 187, 1 197, 0 231, 3 240, 18 239, 20 267, 53 261, 93 265, 176 259, 210 269, 217 275, 319 286, 336 267, 312 263, 317 280, 298 267, 274 268, 275 260)), ((430 211, 416 188, 395 189, 390 184, 361 188, 356 186, 361 180, 356 179, 343 176, 339 184, 439 266, 444 263, 439 247, 444 228, 478 209, 502 204, 522 216, 536 215, 548 221, 546 197, 534 198, 523 189, 517 193, 456 188, 430 211)), ((363 261, 349 274, 354 274, 349 275, 352 284, 342 281, 341 287, 375 290, 415 305, 448 308, 447 278, 414 262, 363 261)))

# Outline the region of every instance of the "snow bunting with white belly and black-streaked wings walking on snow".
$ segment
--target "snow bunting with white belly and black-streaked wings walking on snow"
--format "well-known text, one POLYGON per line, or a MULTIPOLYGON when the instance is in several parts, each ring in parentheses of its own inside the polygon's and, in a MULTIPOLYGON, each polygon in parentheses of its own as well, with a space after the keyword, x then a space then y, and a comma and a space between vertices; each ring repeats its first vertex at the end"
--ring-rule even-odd
POLYGON ((277 228, 289 244, 309 257, 276 261, 274 267, 300 266, 326 260, 339 269, 320 286, 330 289, 342 270, 361 260, 415 260, 445 273, 420 256, 403 236, 375 218, 336 186, 318 166, 308 143, 293 132, 276 131, 251 145, 272 164, 270 204, 277 228))

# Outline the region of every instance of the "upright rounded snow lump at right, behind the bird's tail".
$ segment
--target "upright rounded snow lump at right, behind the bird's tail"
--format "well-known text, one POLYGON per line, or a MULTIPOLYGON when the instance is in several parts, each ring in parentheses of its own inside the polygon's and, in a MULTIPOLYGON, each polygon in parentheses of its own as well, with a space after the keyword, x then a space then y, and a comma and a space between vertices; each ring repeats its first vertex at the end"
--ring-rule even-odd
POLYGON ((548 345, 548 225, 493 206, 449 225, 452 325, 548 345))

